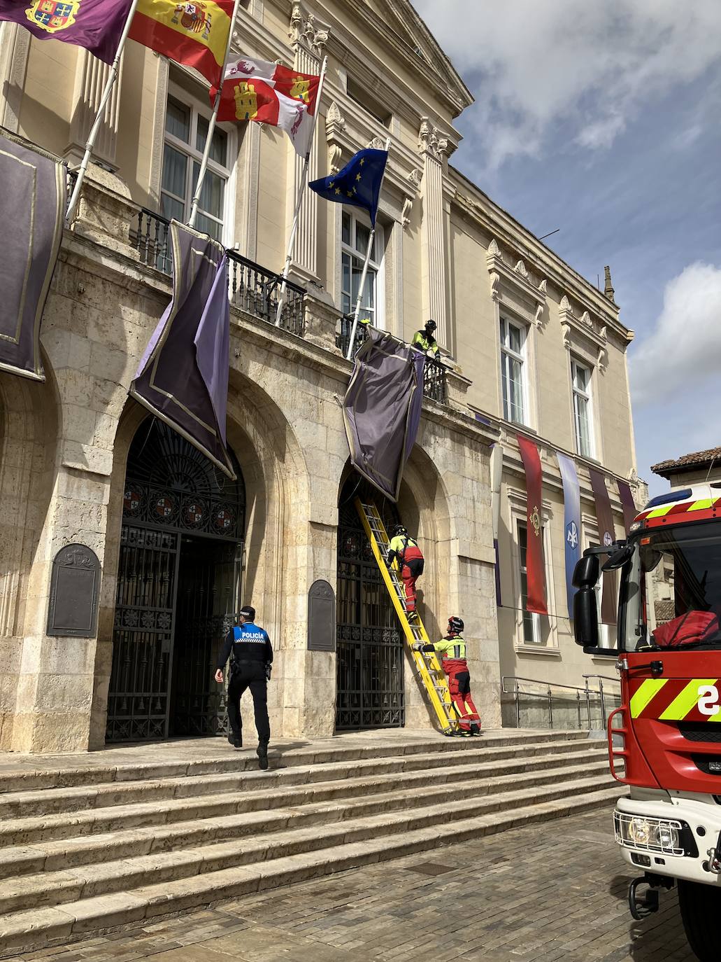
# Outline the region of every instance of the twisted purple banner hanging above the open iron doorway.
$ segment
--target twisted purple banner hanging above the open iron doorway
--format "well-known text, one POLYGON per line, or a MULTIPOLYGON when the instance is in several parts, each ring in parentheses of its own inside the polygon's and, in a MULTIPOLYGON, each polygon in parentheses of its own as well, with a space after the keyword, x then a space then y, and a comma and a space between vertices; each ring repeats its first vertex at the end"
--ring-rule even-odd
POLYGON ((173 297, 130 393, 235 478, 226 447, 230 341, 228 262, 206 234, 170 222, 173 297))

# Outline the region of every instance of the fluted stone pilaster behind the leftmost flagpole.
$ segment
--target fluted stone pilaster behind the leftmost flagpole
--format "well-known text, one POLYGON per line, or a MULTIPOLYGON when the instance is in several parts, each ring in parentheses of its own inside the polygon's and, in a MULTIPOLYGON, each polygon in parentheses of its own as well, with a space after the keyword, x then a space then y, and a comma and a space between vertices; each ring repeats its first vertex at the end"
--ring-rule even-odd
MULTIPOLYGON (((102 161, 115 169, 115 147, 120 116, 120 86, 123 78, 123 59, 120 60, 118 76, 110 100, 105 108, 103 122, 92 154, 95 161, 102 161)), ((99 61, 87 50, 80 50, 75 68, 75 89, 73 92, 73 114, 70 120, 70 142, 65 147, 65 157, 80 162, 85 152, 87 135, 100 107, 103 89, 110 76, 111 68, 99 61)))

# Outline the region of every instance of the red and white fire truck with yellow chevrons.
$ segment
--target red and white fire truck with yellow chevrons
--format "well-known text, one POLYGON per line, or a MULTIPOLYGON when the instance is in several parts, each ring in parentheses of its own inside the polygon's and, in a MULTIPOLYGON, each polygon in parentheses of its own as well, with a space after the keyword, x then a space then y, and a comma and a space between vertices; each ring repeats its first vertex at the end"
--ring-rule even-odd
POLYGON ((653 498, 628 540, 588 548, 574 572, 575 637, 599 647, 604 572, 618 583, 621 704, 609 717, 609 763, 629 786, 613 813, 635 919, 678 888, 701 962, 721 958, 721 484, 653 498), (662 598, 659 600, 659 598, 662 598))

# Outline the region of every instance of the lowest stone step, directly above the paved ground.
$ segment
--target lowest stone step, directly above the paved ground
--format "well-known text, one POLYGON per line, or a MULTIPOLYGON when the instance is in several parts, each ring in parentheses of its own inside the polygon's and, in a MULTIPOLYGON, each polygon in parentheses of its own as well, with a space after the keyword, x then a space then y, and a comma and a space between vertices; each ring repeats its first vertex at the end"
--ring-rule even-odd
MULTIPOLYGON (((367 819, 363 827, 366 831, 372 830, 373 834, 361 841, 343 842, 320 851, 317 848, 307 849, 260 863, 236 865, 172 881, 154 878, 152 884, 137 889, 77 899, 59 906, 33 909, 25 906, 22 911, 0 918, 0 955, 48 948, 83 938, 90 932, 137 923, 143 919, 157 920, 223 899, 234 899, 295 881, 442 848, 449 843, 479 838, 519 824, 537 823, 600 808, 615 801, 622 793, 618 785, 602 788, 596 785, 585 793, 580 791, 581 783, 569 783, 563 787, 567 787, 567 794, 555 798, 539 797, 535 803, 521 805, 512 811, 504 805, 502 810, 487 814, 469 813, 460 821, 458 806, 452 811, 448 806, 442 806, 435 815, 435 823, 432 810, 427 810, 424 821, 428 824, 424 827, 389 837, 376 837, 378 826, 369 824, 373 819, 367 819), (452 833, 448 829, 449 819, 454 820, 452 833)), ((561 786, 557 786, 556 791, 560 789, 561 786)), ((383 818, 382 815, 375 816, 375 820, 383 818)), ((359 828, 358 825, 355 827, 359 828)), ((362 831, 362 828, 359 830, 362 831)), ((276 850, 280 852, 282 849, 276 850)))

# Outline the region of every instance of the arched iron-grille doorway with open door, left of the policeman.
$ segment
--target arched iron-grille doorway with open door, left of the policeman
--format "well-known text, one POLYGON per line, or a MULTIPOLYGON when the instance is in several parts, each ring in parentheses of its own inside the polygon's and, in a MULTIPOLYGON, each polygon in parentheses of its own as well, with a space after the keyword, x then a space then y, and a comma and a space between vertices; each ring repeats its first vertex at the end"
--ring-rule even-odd
POLYGON ((217 735, 212 680, 238 608, 245 486, 158 418, 128 455, 108 693, 109 742, 217 735))

